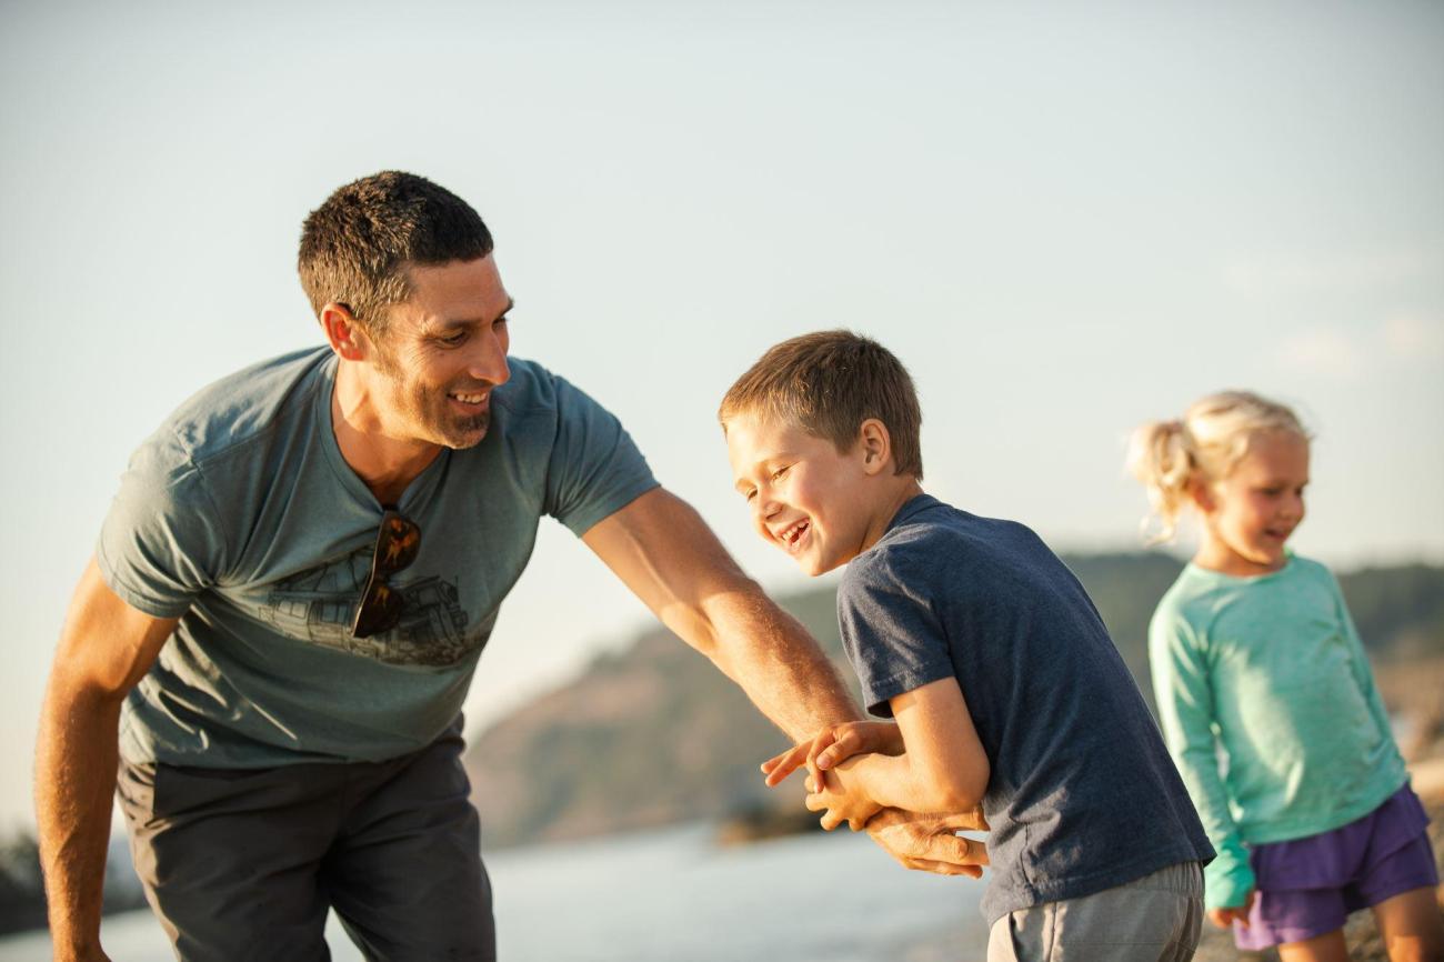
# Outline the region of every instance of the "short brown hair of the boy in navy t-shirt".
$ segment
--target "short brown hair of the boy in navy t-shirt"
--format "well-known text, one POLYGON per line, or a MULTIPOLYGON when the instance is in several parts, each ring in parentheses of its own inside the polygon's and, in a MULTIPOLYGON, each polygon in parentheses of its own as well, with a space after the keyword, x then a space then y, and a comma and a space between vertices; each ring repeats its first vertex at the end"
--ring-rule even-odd
POLYGON ((780 419, 852 449, 869 417, 892 441, 894 474, 923 480, 923 410, 902 363, 852 331, 804 334, 773 347, 728 389, 718 409, 722 433, 744 415, 780 419))

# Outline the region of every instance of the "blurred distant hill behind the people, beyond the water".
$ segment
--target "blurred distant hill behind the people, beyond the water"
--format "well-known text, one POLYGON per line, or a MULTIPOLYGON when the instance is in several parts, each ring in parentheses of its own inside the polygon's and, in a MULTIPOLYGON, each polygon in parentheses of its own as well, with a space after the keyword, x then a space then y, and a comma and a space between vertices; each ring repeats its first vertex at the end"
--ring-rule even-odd
MULTIPOLYGON (((1183 562, 1158 552, 1064 560, 1151 705, 1148 618, 1183 562)), ((1376 663, 1444 653, 1444 568, 1370 568, 1340 582, 1376 663)), ((832 588, 778 602, 852 683, 832 588)), ((757 768, 786 745, 705 657, 653 627, 621 653, 599 657, 576 682, 482 732, 466 768, 487 845, 501 846, 793 807, 800 783, 768 792, 757 768)))

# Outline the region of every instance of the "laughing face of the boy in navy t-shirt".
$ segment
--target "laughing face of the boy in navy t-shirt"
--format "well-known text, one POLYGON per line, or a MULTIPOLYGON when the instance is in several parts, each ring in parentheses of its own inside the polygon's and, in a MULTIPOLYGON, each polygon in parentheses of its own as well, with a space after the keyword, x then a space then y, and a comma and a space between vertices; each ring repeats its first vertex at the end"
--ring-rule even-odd
POLYGON ((793 556, 807 575, 856 558, 872 511, 864 445, 839 454, 830 441, 796 425, 745 415, 726 423, 736 490, 762 540, 793 556))

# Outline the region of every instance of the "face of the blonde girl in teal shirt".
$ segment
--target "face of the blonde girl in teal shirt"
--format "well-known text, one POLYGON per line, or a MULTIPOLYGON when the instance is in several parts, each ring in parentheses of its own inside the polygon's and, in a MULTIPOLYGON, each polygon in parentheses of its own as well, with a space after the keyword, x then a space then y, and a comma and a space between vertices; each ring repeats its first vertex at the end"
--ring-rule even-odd
POLYGON ((1284 543, 1304 520, 1308 439, 1288 430, 1253 436, 1233 471, 1193 491, 1204 537, 1194 562, 1225 575, 1284 566, 1284 543))

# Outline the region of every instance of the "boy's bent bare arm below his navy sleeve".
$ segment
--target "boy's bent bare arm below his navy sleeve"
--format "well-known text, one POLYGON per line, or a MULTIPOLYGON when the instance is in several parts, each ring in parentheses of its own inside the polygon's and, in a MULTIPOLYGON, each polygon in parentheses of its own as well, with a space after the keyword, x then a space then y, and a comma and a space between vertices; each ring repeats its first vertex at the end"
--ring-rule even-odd
MULTIPOLYGON (((967 812, 982 802, 991 768, 954 677, 943 677, 890 701, 905 751, 843 761, 825 774, 807 807, 826 809, 822 825, 862 828, 878 809, 967 812)), ((816 786, 814 786, 816 787, 816 786)))

